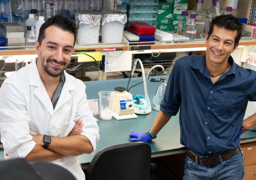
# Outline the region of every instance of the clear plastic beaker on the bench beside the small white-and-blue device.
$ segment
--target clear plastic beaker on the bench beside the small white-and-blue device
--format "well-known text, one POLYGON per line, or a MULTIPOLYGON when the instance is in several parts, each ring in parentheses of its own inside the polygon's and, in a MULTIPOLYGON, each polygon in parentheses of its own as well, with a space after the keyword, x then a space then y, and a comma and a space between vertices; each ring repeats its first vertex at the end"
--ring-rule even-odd
POLYGON ((99 118, 111 120, 113 115, 115 93, 111 91, 100 91, 99 96, 99 118))

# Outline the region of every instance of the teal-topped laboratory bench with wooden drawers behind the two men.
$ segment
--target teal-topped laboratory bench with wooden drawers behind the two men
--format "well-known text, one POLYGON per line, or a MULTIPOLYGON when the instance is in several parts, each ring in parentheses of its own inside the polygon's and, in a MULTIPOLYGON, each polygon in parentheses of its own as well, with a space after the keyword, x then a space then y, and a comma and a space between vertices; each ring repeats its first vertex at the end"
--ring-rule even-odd
MULTIPOLYGON (((160 79, 162 76, 154 76, 155 79, 160 79)), ((168 81, 169 76, 165 76, 168 81)), ((151 79, 151 78, 150 78, 151 79)), ((149 79, 149 80, 150 80, 149 79)), ((143 78, 131 78, 129 87, 140 83, 143 78)), ((89 81, 84 82, 86 85, 87 99, 98 99, 99 91, 114 91, 115 87, 127 87, 128 79, 116 79, 116 80, 103 80, 103 81, 89 81)), ((153 99, 159 82, 148 81, 148 93, 150 100, 153 99)), ((144 94, 143 83, 135 86, 129 91, 131 94, 144 94)), ((100 139, 96 143, 96 152, 102 148, 122 144, 130 143, 129 132, 131 131, 148 131, 154 124, 158 115, 157 110, 152 109, 152 112, 146 115, 138 115, 136 119, 116 120, 112 118, 109 121, 100 120, 97 122, 99 126, 100 139)), ((180 129, 179 129, 179 113, 176 116, 172 116, 167 125, 159 132, 157 138, 152 142, 149 142, 152 148, 152 157, 168 156, 172 154, 185 153, 186 147, 180 144, 180 129)), ((241 136, 241 146, 243 147, 245 154, 245 169, 246 171, 253 172, 256 170, 256 132, 248 131, 241 136), (247 163, 248 162, 248 163, 247 163), (249 169, 249 170, 247 170, 249 169)), ((79 162, 83 169, 87 169, 93 156, 92 154, 80 155, 79 162)), ((4 160, 3 150, 0 150, 0 161, 4 160)), ((255 171, 256 172, 256 171, 255 171)), ((255 173, 254 172, 254 173, 255 173)), ((248 173, 247 173, 248 174, 248 173)), ((252 173, 251 173, 252 174, 252 173)), ((250 176, 251 176, 250 174, 250 176)), ((254 174, 253 174, 254 175, 254 174)), ((256 177, 256 175, 254 175, 256 177)), ((253 180, 253 179, 246 179, 253 180)))

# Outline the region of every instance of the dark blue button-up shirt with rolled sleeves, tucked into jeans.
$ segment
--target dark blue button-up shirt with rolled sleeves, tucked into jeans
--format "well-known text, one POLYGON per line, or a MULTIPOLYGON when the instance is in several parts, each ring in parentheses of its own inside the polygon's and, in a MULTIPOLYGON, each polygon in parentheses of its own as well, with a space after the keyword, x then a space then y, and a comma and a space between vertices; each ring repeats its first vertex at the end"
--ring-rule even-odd
POLYGON ((180 143, 201 156, 237 148, 236 137, 248 101, 256 101, 256 72, 237 65, 212 84, 205 55, 178 59, 160 110, 175 116, 180 108, 180 143))

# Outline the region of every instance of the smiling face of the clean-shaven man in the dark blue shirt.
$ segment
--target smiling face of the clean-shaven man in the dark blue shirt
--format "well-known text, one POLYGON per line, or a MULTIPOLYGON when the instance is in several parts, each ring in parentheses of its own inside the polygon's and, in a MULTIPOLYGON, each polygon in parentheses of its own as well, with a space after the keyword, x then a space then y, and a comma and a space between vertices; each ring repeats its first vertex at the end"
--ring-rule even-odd
POLYGON ((215 25, 208 40, 208 34, 206 35, 206 58, 216 64, 225 62, 238 46, 235 47, 236 36, 237 31, 226 30, 215 25))

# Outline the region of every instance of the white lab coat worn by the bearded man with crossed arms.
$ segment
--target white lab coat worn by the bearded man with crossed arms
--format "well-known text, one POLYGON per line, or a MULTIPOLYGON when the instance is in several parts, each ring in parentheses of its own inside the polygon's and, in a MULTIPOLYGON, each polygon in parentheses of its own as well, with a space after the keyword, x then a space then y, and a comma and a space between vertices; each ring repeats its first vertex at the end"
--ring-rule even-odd
MULTIPOLYGON (((85 84, 64 71, 66 78, 58 103, 52 102, 40 79, 36 60, 4 80, 0 88, 0 132, 4 159, 24 158, 34 148, 32 135, 66 137, 75 122, 82 120, 83 132, 96 149, 99 128, 89 110, 85 84)), ((51 163, 67 168, 77 180, 85 180, 77 156, 51 163)))

